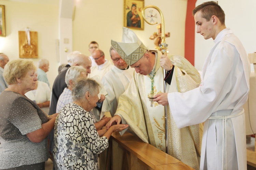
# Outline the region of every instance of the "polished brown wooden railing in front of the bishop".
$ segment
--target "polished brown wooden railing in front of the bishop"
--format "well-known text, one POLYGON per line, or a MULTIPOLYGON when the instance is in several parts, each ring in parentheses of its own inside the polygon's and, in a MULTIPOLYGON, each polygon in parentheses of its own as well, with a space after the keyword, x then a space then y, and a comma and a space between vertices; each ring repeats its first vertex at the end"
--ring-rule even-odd
POLYGON ((128 132, 123 136, 115 132, 110 140, 113 170, 193 169, 128 132))

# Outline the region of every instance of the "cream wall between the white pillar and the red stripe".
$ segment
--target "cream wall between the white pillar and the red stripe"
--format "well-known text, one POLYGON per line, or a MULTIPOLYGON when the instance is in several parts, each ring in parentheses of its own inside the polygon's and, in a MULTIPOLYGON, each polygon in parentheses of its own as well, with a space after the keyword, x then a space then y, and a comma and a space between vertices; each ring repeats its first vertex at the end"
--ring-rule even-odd
MULTIPOLYGON (((184 56, 186 0, 145 0, 144 6, 156 5, 165 18, 165 31, 170 32, 166 38, 169 52, 184 56)), ((142 9, 141 9, 142 10, 142 9)), ((157 11, 154 10, 154 14, 157 11)), ((148 11, 145 11, 149 14, 148 11)), ((160 15, 154 18, 161 22, 160 15)), ((122 41, 122 27, 124 26, 124 1, 94 1, 86 0, 76 2, 75 19, 73 21, 73 50, 81 51, 90 56, 88 45, 90 41, 97 41, 99 48, 110 59, 109 49, 111 39, 122 41)), ((132 29, 148 49, 154 49, 153 40, 149 39, 157 32, 156 25, 151 26, 144 22, 144 30, 132 29)))

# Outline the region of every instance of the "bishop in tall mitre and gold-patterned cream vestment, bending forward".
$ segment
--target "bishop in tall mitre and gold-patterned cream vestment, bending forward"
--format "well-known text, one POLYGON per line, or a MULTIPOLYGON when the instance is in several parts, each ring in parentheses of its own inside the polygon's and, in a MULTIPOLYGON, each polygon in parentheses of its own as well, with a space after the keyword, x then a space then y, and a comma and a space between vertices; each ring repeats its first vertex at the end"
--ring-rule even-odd
MULTIPOLYGON (((111 44, 136 72, 127 90, 119 97, 117 111, 107 129, 113 122, 119 124, 122 120, 144 142, 165 151, 164 106, 148 98, 164 90, 164 76, 159 62, 161 52, 148 51, 128 28, 123 28, 122 43, 112 40, 111 44)), ((184 57, 168 57, 174 67, 169 69, 171 82, 167 85, 167 91, 185 92, 198 87, 201 82, 198 71, 184 57)), ((200 155, 201 136, 202 124, 178 129, 172 115, 168 115, 169 154, 194 169, 199 169, 197 153, 200 155)))

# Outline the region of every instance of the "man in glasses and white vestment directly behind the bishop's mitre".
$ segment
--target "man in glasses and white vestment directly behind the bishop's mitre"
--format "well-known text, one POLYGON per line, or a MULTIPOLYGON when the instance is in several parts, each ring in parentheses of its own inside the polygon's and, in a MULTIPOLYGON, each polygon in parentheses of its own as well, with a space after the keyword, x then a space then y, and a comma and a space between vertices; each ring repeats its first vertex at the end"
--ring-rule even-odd
POLYGON ((111 116, 114 116, 119 96, 127 89, 134 72, 134 69, 120 57, 112 46, 110 48, 110 57, 114 67, 101 80, 108 93, 102 104, 101 117, 103 117, 105 112, 110 112, 111 116))

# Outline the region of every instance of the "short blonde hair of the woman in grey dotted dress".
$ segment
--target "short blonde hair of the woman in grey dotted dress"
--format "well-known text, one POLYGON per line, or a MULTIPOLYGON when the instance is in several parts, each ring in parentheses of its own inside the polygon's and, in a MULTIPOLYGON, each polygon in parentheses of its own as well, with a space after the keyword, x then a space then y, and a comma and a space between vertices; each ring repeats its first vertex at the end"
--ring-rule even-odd
POLYGON ((24 77, 29 70, 36 70, 32 60, 12 60, 4 66, 3 76, 8 84, 15 84, 16 78, 24 77))

